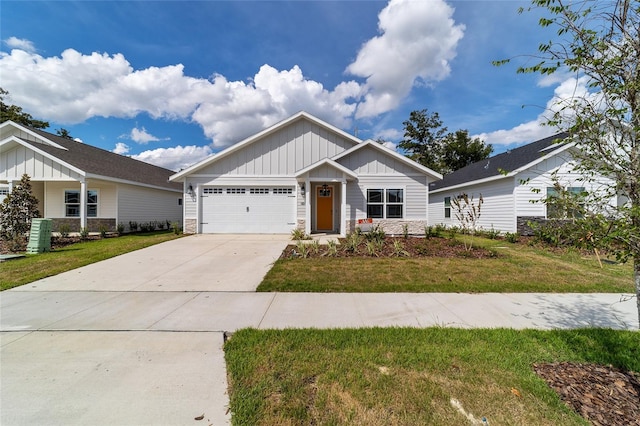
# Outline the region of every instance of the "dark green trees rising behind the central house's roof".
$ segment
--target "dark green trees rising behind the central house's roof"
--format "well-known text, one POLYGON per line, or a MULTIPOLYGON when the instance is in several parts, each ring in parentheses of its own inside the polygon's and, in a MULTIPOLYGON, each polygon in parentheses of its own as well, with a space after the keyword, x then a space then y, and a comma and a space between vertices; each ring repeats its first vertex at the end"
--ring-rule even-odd
POLYGON ((479 138, 472 139, 467 130, 448 133, 437 112, 412 111, 402 124, 404 139, 398 147, 412 160, 438 173, 454 172, 493 152, 493 147, 479 138))

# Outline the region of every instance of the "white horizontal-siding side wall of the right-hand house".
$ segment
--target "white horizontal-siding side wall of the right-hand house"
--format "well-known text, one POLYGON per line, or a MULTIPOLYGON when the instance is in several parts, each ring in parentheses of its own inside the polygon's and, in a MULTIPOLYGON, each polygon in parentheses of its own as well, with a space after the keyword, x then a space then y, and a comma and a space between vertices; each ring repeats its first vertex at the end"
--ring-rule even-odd
POLYGON ((473 196, 473 204, 478 205, 478 199, 482 194, 482 207, 478 227, 484 230, 495 229, 500 232, 515 232, 516 220, 513 211, 513 178, 498 179, 493 182, 470 185, 464 188, 444 190, 429 194, 429 225, 442 224, 445 226, 460 226, 456 219, 455 208, 451 206, 451 217, 444 217, 444 199, 451 197, 453 200, 458 195, 465 193, 473 196))

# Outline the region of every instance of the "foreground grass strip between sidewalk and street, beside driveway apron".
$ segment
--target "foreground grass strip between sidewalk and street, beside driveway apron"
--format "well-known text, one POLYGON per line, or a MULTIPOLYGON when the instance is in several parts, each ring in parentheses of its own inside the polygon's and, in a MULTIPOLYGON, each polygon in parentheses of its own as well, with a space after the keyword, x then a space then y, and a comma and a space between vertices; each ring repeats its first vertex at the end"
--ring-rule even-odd
POLYGON ((532 364, 588 362, 637 372, 640 334, 245 329, 226 343, 225 357, 234 425, 470 424, 452 398, 489 424, 586 425, 532 364))

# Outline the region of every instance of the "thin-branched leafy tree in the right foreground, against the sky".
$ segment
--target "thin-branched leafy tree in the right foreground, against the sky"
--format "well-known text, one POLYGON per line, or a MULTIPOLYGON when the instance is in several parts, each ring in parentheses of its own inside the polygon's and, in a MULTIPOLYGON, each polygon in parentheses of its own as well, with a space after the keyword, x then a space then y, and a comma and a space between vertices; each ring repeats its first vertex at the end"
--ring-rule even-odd
POLYGON ((603 200, 623 201, 609 213, 602 242, 633 260, 640 323, 640 3, 533 0, 531 9, 545 11, 539 23, 558 38, 540 44, 533 65, 517 72, 570 73, 581 89, 557 100, 547 124, 568 132, 585 178, 611 179, 603 200))

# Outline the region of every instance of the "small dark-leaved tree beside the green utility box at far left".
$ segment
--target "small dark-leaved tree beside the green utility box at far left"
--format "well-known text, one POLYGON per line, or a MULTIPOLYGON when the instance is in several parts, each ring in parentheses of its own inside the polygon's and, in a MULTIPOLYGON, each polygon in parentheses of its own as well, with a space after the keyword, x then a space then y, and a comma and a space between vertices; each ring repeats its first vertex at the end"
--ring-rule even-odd
POLYGON ((38 199, 31 192, 29 176, 22 175, 20 183, 0 204, 0 238, 13 242, 12 249, 20 250, 26 243, 31 219, 39 216, 38 199))

